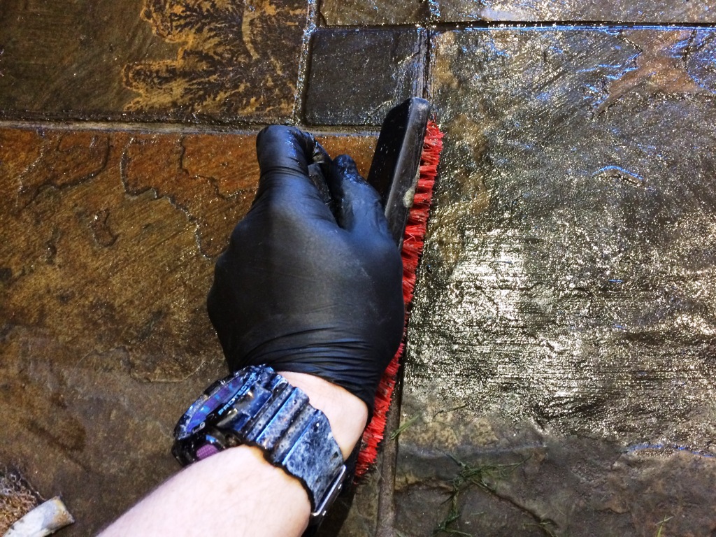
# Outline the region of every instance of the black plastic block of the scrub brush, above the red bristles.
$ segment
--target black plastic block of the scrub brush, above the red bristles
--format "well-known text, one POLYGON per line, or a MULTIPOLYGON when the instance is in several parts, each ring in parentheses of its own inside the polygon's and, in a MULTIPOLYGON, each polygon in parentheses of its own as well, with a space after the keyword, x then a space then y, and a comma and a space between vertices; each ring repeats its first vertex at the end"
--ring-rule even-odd
POLYGON ((386 115, 368 173, 380 194, 390 234, 400 248, 420 177, 430 102, 418 97, 402 102, 386 115))

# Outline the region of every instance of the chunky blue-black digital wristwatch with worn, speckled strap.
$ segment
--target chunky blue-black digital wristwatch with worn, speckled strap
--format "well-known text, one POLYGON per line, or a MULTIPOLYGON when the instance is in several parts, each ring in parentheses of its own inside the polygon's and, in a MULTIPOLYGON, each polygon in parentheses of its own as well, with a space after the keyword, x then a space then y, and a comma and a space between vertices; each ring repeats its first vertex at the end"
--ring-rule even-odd
POLYGON ((268 366, 249 366, 220 379, 174 429, 172 453, 183 466, 237 445, 252 445, 304 485, 309 528, 318 526, 347 475, 328 418, 303 391, 268 366))

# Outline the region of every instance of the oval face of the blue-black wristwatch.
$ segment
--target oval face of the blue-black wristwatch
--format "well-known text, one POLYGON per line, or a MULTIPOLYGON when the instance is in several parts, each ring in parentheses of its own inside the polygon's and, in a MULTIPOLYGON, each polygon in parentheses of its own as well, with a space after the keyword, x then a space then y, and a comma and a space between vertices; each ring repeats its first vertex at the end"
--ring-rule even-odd
POLYGON ((221 419, 224 412, 246 391, 245 378, 241 375, 226 377, 216 382, 183 415, 177 424, 175 437, 181 440, 204 425, 211 425, 211 422, 221 419))

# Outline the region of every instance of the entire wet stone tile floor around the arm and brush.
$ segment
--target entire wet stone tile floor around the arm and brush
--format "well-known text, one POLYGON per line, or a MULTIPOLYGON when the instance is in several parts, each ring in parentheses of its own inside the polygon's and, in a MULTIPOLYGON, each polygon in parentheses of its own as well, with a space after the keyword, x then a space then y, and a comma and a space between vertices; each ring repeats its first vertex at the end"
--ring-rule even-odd
MULTIPOLYGON (((0 119, 289 121, 308 7, 5 1, 0 119)), ((480 20, 714 23, 716 4, 326 0, 299 116, 378 125, 425 85, 426 30, 324 26, 480 20)), ((712 537, 716 32, 463 29, 430 48, 447 136, 395 529, 712 537)), ((0 129, 0 464, 63 495, 67 536, 177 470, 176 417, 225 370, 213 258, 258 175, 253 135, 111 127, 0 129)), ((364 174, 374 141, 321 138, 364 174)), ((387 489, 370 474, 321 536, 394 535, 387 489)))

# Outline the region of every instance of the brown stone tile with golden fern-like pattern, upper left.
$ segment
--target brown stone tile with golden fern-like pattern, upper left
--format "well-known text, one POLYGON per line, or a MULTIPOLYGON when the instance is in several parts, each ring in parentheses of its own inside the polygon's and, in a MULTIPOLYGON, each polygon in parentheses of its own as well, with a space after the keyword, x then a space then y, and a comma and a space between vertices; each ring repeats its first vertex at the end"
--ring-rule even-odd
POLYGON ((288 120, 306 1, 5 2, 0 116, 288 120))

